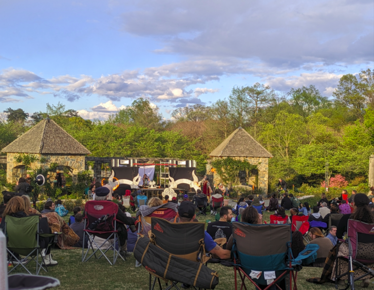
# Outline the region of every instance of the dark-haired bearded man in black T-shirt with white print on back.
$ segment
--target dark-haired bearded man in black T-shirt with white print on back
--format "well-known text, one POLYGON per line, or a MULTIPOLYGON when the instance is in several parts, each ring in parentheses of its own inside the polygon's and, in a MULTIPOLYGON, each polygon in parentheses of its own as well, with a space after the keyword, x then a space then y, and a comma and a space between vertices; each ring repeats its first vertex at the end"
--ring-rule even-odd
POLYGON ((206 232, 208 232, 213 239, 226 238, 227 242, 228 238, 232 234, 232 226, 230 223, 232 217, 232 208, 222 207, 220 210, 220 220, 209 223, 206 228, 206 232))

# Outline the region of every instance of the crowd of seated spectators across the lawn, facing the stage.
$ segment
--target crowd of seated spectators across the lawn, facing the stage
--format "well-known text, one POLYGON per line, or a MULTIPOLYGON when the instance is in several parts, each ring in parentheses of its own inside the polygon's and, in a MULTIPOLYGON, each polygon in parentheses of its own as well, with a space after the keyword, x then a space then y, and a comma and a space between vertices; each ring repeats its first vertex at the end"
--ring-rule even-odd
MULTIPOLYGON (((48 200, 45 203, 44 210, 39 213, 35 209, 30 207, 30 198, 27 195, 27 183, 26 180, 20 179, 17 185, 18 193, 3 192, 3 204, 0 205, 0 214, 3 217, 0 228, 4 231, 4 217, 10 215, 13 217, 26 217, 30 215, 38 215, 40 218, 40 226, 45 232, 53 232, 51 229, 52 218, 51 214, 56 214, 57 216, 63 216, 67 214, 60 200, 56 201, 56 204, 52 200, 48 200), (19 196, 21 195, 21 196, 19 196)), ((181 198, 171 198, 165 196, 165 200, 161 200, 158 197, 152 197, 143 205, 142 210, 147 210, 152 207, 161 207, 165 203, 171 202, 176 203, 174 207, 178 211, 178 222, 190 222, 197 221, 196 219, 196 205, 194 204, 195 197, 208 198, 210 195, 212 197, 220 198, 223 195, 228 195, 228 190, 220 184, 219 188, 215 189, 214 193, 210 187, 208 179, 205 177, 202 181, 202 190, 198 190, 196 195, 192 197, 192 200, 188 195, 184 195, 181 198)), ((354 219, 362 221, 365 223, 374 223, 374 195, 366 195, 364 193, 356 193, 352 191, 351 196, 348 198, 348 192, 346 190, 342 191, 340 197, 332 200, 328 200, 325 194, 322 194, 321 199, 315 205, 310 205, 308 202, 301 202, 292 193, 288 194, 286 192, 287 185, 284 180, 279 180, 278 186, 281 187, 285 192, 282 194, 281 202, 277 198, 277 193, 273 193, 269 200, 269 205, 264 206, 264 201, 262 195, 250 194, 246 199, 240 198, 235 206, 223 206, 218 210, 216 214, 215 221, 210 222, 207 225, 204 244, 206 251, 210 252, 213 257, 217 257, 221 260, 230 260, 231 249, 233 246, 233 236, 232 236, 232 222, 242 221, 249 224, 262 224, 262 212, 268 211, 273 212, 273 215, 284 219, 286 223, 291 224, 294 216, 308 216, 308 221, 318 221, 328 224, 331 215, 342 213, 337 226, 331 226, 329 228, 315 227, 309 229, 308 235, 311 244, 317 244, 319 250, 317 251, 317 259, 309 266, 312 267, 323 267, 323 273, 320 278, 310 278, 308 281, 313 283, 324 283, 330 280, 335 280, 336 271, 335 267, 338 267, 338 274, 340 272, 346 271, 348 268, 347 263, 343 261, 339 262, 339 265, 335 265, 335 247, 337 244, 337 239, 343 238, 345 232, 347 232, 347 222, 348 219, 354 219), (286 215, 285 211, 289 211, 289 215, 286 215), (326 236, 322 231, 328 232, 326 236), (332 261, 332 267, 326 267, 326 263, 332 261), (326 269, 330 270, 326 270, 326 269)), ((134 245, 136 243, 137 235, 135 224, 137 221, 136 217, 132 217, 130 213, 126 211, 126 208, 122 205, 122 196, 113 194, 112 187, 108 184, 107 180, 103 180, 103 184, 96 182, 94 180, 90 187, 93 194, 93 199, 96 201, 112 200, 117 199, 118 213, 116 218, 120 220, 123 224, 119 224, 119 244, 123 254, 130 256, 133 251, 134 245)), ((374 188, 371 188, 372 193, 374 188)), ((125 198, 132 197, 132 203, 130 205, 135 209, 135 199, 139 195, 144 195, 141 190, 138 190, 134 195, 131 191, 126 191, 125 198), (129 193, 128 193, 129 192, 129 193)), ((209 199, 208 199, 209 200, 209 199)), ((213 212, 211 212, 213 213, 213 212)), ((56 216, 54 216, 56 217, 56 216)), ((71 231, 74 233, 74 247, 82 247, 85 245, 87 247, 87 240, 83 240, 83 215, 82 209, 76 207, 74 209, 74 215, 69 219, 69 226, 71 231)), ((72 234, 73 237, 73 234, 72 234)), ((40 247, 43 249, 46 244, 45 241, 39 241, 40 247)), ((292 234, 292 253, 294 257, 297 257, 299 252, 304 250, 304 237, 299 231, 295 231, 292 234)), ((339 253, 346 254, 345 247, 339 248, 339 253)), ((368 248, 366 254, 369 257, 374 258, 374 245, 370 249, 368 248)), ((47 266, 57 265, 50 253, 50 248, 43 251, 43 257, 47 266)), ((8 257, 10 259, 10 257, 8 257)), ((368 265, 368 267, 374 267, 374 265, 368 265)), ((362 274, 362 273, 361 273, 362 274)), ((355 271, 355 275, 360 275, 360 270, 355 271)), ((347 277, 341 277, 344 279, 347 277)), ((344 283, 343 280, 339 280, 338 283, 344 283)), ((370 281, 365 279, 361 282, 362 287, 368 287, 370 281)), ((188 285, 183 285, 182 288, 188 288, 188 285)))

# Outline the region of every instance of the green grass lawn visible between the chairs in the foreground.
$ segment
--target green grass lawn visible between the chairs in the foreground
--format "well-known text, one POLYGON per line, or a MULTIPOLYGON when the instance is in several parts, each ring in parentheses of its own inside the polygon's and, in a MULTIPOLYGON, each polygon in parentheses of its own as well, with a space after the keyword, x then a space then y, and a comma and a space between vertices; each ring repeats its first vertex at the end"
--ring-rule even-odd
MULTIPOLYGON (((269 222, 270 213, 264 213, 264 220, 269 222)), ((69 215, 64 217, 67 221, 69 215)), ((205 222, 207 219, 214 220, 212 216, 198 217, 199 221, 205 222)), ((59 290, 145 290, 148 289, 149 274, 143 268, 135 267, 133 256, 128 257, 127 261, 118 259, 115 266, 110 266, 104 260, 91 259, 86 263, 81 262, 81 250, 59 250, 52 249, 53 257, 58 261, 56 267, 50 267, 49 272, 41 271, 42 275, 52 276, 60 280, 59 290)), ((219 274, 219 285, 217 290, 234 289, 234 271, 233 268, 224 267, 216 264, 209 264, 209 267, 219 274)), ((15 271, 16 272, 16 271, 15 271)), ((326 283, 315 285, 305 281, 306 278, 319 277, 321 268, 304 267, 298 274, 299 290, 325 290, 335 289, 334 284, 326 283)), ((373 281, 374 282, 374 281, 373 281)), ((247 284, 248 289, 254 290, 253 285, 247 284)), ((356 287, 360 289, 359 283, 356 287)), ((156 288, 158 289, 158 288, 156 288)), ((374 290, 374 283, 369 288, 374 290)))

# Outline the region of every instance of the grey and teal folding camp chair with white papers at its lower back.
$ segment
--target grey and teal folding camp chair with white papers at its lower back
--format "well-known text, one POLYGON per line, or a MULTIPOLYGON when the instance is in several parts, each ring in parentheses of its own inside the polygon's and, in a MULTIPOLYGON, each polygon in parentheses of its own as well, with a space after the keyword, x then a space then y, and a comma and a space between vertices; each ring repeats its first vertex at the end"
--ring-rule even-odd
POLYGON ((289 289, 297 290, 297 273, 291 260, 291 225, 235 222, 232 224, 232 234, 235 290, 238 289, 238 273, 241 290, 247 289, 245 279, 253 283, 256 290, 268 290, 273 285, 281 289, 278 284, 286 275, 289 275, 289 289))

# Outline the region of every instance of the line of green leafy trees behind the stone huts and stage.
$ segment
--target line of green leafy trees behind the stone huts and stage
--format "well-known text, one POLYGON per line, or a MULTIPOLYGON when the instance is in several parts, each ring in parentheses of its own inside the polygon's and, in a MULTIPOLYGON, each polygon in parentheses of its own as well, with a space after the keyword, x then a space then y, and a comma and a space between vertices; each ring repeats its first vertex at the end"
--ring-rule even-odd
POLYGON ((139 98, 105 121, 85 120, 61 103, 28 116, 8 108, 0 121, 0 148, 49 115, 93 156, 195 159, 204 174, 209 153, 241 126, 272 155, 269 183, 278 178, 300 186, 342 174, 365 183, 374 154, 374 71, 343 75, 333 97, 314 86, 279 93, 255 83, 236 86, 210 106, 178 108, 165 120, 149 100, 139 98))

